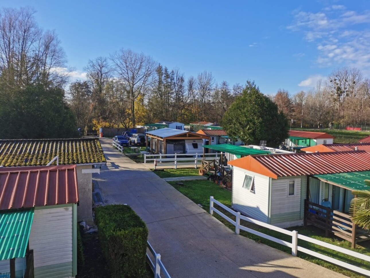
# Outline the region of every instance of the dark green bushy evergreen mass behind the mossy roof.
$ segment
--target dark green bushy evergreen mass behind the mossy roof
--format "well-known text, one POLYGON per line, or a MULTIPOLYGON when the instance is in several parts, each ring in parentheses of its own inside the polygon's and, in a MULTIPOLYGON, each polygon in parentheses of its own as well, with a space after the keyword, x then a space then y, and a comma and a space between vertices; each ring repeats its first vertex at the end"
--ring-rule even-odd
POLYGON ((64 101, 64 90, 31 85, 0 92, 1 139, 73 138, 76 119, 64 101))

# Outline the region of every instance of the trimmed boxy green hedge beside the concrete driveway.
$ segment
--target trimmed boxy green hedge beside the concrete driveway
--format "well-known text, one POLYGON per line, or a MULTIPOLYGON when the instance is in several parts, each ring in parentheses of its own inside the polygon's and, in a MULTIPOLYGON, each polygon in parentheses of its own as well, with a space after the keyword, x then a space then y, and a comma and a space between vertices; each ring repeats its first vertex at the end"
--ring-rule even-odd
POLYGON ((127 205, 98 207, 95 221, 111 277, 142 277, 148 240, 144 221, 127 205))

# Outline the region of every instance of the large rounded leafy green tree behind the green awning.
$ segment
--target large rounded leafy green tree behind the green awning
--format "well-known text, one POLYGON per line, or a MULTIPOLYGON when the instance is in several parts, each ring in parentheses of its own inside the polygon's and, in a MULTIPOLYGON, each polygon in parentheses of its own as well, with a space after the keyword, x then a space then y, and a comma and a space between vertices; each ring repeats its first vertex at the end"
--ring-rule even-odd
POLYGON ((222 126, 231 138, 247 144, 259 145, 260 140, 266 140, 268 146, 276 147, 288 137, 286 117, 251 81, 225 113, 222 126))

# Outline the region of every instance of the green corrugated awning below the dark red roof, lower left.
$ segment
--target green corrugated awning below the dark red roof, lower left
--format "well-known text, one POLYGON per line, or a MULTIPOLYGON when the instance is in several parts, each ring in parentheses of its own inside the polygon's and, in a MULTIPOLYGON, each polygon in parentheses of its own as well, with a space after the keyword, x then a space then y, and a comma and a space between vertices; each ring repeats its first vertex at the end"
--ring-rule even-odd
POLYGON ((0 261, 26 255, 33 212, 33 209, 24 209, 0 213, 0 261))

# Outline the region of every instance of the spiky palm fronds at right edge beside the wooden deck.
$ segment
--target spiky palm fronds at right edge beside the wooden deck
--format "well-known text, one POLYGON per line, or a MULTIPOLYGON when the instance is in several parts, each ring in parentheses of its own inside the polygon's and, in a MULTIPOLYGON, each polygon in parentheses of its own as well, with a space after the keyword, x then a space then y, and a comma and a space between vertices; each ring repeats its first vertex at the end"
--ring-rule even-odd
MULTIPOLYGON (((370 181, 365 181, 370 186, 370 181)), ((355 198, 351 201, 350 213, 353 214, 352 221, 365 230, 370 230, 370 191, 353 191, 355 198)))

